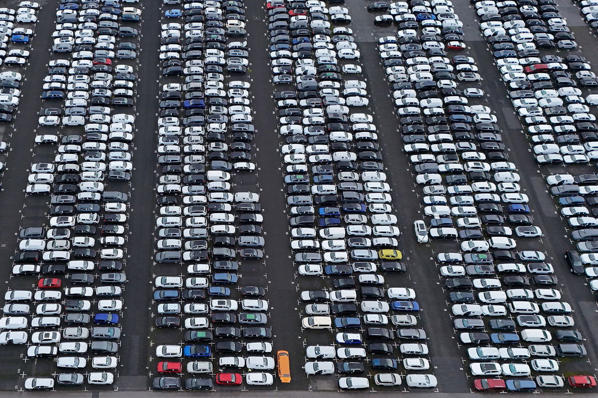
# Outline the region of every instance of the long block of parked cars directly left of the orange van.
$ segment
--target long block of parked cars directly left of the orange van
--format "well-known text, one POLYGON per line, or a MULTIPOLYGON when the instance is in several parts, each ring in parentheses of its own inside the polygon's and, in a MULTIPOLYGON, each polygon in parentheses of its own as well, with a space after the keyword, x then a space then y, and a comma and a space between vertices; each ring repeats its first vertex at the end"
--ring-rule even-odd
MULTIPOLYGON (((246 42, 231 41, 245 34, 245 5, 163 3, 174 7, 163 7, 161 26, 155 273, 164 276, 154 281, 155 325, 184 332, 156 348, 152 388, 270 385, 266 290, 243 286, 238 275, 245 261, 263 258, 265 243, 259 195, 239 192, 256 169, 251 85, 226 76, 242 76, 249 66, 246 42), (181 68, 180 77, 173 68, 181 68), (165 275, 180 275, 180 264, 184 276, 165 275)), ((160 339, 170 340, 167 333, 160 339)))

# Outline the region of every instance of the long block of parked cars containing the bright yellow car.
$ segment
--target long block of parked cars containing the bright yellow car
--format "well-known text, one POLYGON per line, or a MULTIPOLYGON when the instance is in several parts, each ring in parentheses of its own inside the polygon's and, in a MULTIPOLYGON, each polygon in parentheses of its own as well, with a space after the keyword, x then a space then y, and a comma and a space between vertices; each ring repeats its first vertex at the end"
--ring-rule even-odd
POLYGON ((405 265, 359 50, 352 29, 338 26, 347 9, 313 0, 266 8, 302 326, 326 330, 307 332, 318 345, 306 348, 304 371, 337 374, 342 389, 401 385, 405 371, 409 387, 435 387, 414 290, 385 292, 405 265), (373 380, 362 376, 370 369, 373 380))

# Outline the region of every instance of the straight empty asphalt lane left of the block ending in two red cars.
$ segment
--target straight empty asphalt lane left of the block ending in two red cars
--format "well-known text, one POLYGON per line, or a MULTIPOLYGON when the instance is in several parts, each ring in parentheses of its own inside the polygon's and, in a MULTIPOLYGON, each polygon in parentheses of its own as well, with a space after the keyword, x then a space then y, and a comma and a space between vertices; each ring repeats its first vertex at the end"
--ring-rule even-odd
POLYGON ((137 97, 135 99, 135 149, 131 178, 129 245, 127 246, 127 307, 122 320, 119 390, 147 390, 151 315, 151 267, 154 255, 155 148, 157 148, 157 93, 160 67, 160 8, 155 2, 142 3, 137 97))

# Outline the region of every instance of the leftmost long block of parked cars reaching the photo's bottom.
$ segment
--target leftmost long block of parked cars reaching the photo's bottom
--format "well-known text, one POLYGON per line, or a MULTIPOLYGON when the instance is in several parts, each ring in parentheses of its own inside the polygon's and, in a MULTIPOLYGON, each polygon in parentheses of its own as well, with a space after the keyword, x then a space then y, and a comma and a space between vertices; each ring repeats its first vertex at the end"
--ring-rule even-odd
MULTIPOLYGON (((35 137, 40 146, 26 189, 50 195, 50 228, 20 232, 13 274, 41 276, 29 297, 35 305, 31 327, 39 331, 30 338, 28 356, 56 357, 58 371, 55 379, 26 379, 28 389, 53 388, 54 381, 112 384, 115 379, 129 199, 120 190, 132 171, 135 117, 112 108, 133 105, 136 75, 133 66, 114 63, 114 50, 135 48, 119 30, 121 23, 137 22, 130 16, 140 13, 113 0, 62 1, 56 13, 54 47, 72 48, 53 48, 61 58, 50 60, 44 78, 35 137), (72 54, 65 58, 66 53, 72 54), (50 148, 53 161, 42 161, 51 156, 50 148)), ((11 290, 6 298, 23 305, 28 300, 22 294, 11 290)), ((2 326, 20 328, 11 322, 2 326)))

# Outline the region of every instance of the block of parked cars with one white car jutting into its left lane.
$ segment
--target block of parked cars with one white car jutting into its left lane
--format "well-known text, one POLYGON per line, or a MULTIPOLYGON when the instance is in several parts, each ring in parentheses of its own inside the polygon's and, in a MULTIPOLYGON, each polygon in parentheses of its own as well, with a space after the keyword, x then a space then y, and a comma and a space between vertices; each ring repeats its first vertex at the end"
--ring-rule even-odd
MULTIPOLYGON (((453 23, 447 23, 450 19, 446 17, 444 14, 440 18, 443 22, 439 27, 460 25, 456 14, 453 14, 453 23)), ((422 20, 422 31, 429 27, 429 21, 434 25, 437 20, 422 20)), ((428 40, 423 36, 420 36, 423 41, 421 45, 416 40, 410 42, 400 37, 388 37, 380 39, 379 47, 383 62, 389 59, 385 52, 396 51, 390 57, 396 63, 385 65, 388 68, 387 77, 393 84, 392 94, 398 107, 398 117, 402 118, 401 124, 410 124, 402 127, 403 140, 416 173, 416 183, 423 185, 423 213, 433 217, 429 224, 423 221, 414 223, 417 239, 420 243, 427 243, 434 238, 461 240, 456 252, 441 252, 437 255, 444 287, 453 290, 449 294, 453 326, 466 347, 475 345, 468 348, 470 360, 486 358, 477 355, 478 351, 488 351, 493 360, 507 360, 506 363, 473 362, 469 366, 472 375, 526 376, 533 370, 539 372, 536 381, 511 379, 506 384, 503 382, 504 388, 524 390, 532 385, 535 388, 536 382, 542 387, 562 387, 562 377, 546 373, 559 371, 556 360, 544 359, 556 355, 554 347, 532 344, 521 352, 515 348, 504 348, 507 351, 502 356, 499 354, 499 348, 504 345, 551 340, 547 330, 518 330, 519 327, 543 327, 547 324, 559 328, 573 326, 572 318, 562 316, 559 312, 561 308, 565 309, 563 313, 568 312, 570 306, 554 302, 560 299, 560 292, 550 287, 556 284, 556 278, 550 275, 553 272, 551 265, 539 264, 545 259, 544 253, 529 250, 515 253, 511 250, 517 246, 518 237, 535 237, 542 232, 532 225, 533 218, 527 215, 530 211, 526 204, 528 198, 521 193, 518 184, 520 176, 504 152, 506 148, 501 143, 496 117, 487 106, 469 104, 469 98, 481 96, 483 92, 475 88, 462 91, 459 85, 463 83, 457 83, 458 79, 452 74, 461 68, 475 72, 475 60, 465 56, 454 56, 449 60, 446 53, 436 51, 436 59, 432 59, 429 50, 427 56, 422 51, 428 40), (444 63, 445 66, 437 63, 444 63), (431 84, 426 84, 421 75, 414 73, 420 72, 413 69, 417 65, 424 66, 424 73, 432 74, 431 84), (446 65, 451 66, 448 75, 446 65), (474 95, 465 96, 465 92, 474 95), (411 110, 401 112, 401 109, 410 107, 411 110), (414 117, 408 120, 405 112, 407 115, 413 112, 414 117), (426 117, 422 117, 422 114, 426 117), (484 134, 485 131, 488 133, 484 134), (448 197, 445 196, 447 194, 448 197), (505 207, 507 215, 502 214, 505 207), (453 217, 457 217, 456 225, 453 224, 453 217), (507 222, 512 227, 506 226, 507 222), (490 249, 493 249, 492 253, 490 249), (517 261, 533 262, 526 267, 517 261), (495 265, 495 262, 501 264, 495 265), (526 288, 531 284, 526 274, 534 277, 533 281, 538 285, 535 290, 526 288), (502 290, 503 287, 506 289, 502 290), (540 305, 534 300, 550 300, 540 303, 542 310, 550 315, 556 309, 559 315, 548 316, 548 321, 544 316, 536 315, 540 305), (508 317, 501 318, 503 316, 508 317), (517 322, 512 317, 516 317, 517 322), (527 322, 529 320, 532 322, 527 322), (490 333, 486 333, 487 330, 490 333), (544 339, 535 339, 535 335, 542 335, 544 339), (513 353, 513 350, 517 352, 513 353), (529 364, 518 363, 520 360, 527 362, 530 356, 540 358, 529 364), (487 371, 486 368, 492 368, 493 371, 487 371)), ((554 333, 563 342, 568 342, 567 336, 570 335, 575 335, 573 340, 581 337, 575 330, 557 330, 554 333)), ((573 353, 585 355, 585 348, 569 345, 565 343, 558 347, 565 351, 572 348, 573 353)), ((559 351, 559 355, 566 356, 565 351, 559 351)), ((483 390, 481 385, 486 382, 485 379, 479 379, 474 385, 483 390)))

